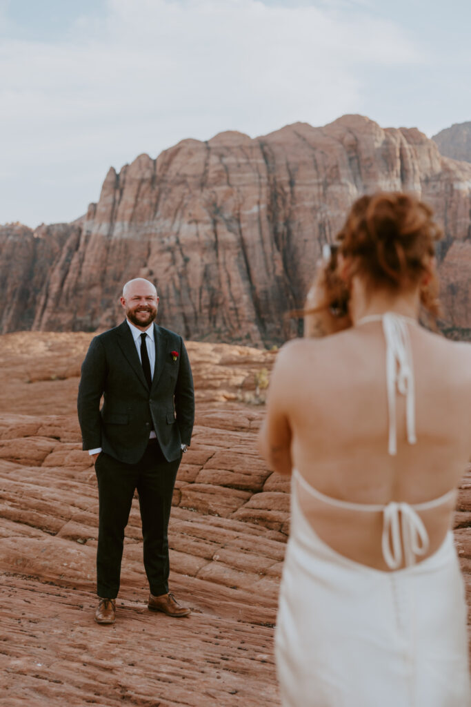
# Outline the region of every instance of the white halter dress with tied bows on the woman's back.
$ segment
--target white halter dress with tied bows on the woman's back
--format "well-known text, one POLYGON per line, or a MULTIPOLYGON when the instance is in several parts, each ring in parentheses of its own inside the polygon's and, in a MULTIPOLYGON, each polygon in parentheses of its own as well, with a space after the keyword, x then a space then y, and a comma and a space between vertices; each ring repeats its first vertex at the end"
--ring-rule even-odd
MULTIPOLYGON (((407 440, 416 441, 408 321, 388 312, 357 324, 374 320, 382 320, 386 337, 388 451, 395 455, 396 387, 406 396, 407 440)), ((429 548, 419 512, 452 496, 455 490, 413 506, 347 503, 293 470, 275 633, 283 707, 471 707, 465 592, 451 530, 434 554, 416 561, 429 548), (299 489, 333 506, 381 512, 378 542, 392 571, 328 547, 304 518, 299 489)))

